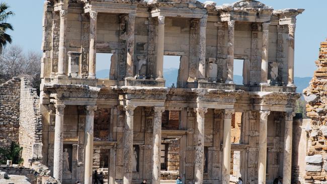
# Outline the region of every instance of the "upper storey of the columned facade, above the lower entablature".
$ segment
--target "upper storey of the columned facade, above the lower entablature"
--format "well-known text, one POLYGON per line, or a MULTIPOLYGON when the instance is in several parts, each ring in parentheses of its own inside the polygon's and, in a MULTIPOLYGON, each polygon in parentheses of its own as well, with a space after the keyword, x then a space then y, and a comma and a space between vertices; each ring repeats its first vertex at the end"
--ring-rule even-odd
MULTIPOLYGON (((179 57, 176 86, 294 91, 296 16, 257 1, 58 0, 44 13, 44 83, 165 86, 163 65, 179 57), (100 53, 108 78, 98 79, 100 53), (234 62, 243 85, 234 83, 234 62), (280 86, 280 87, 278 87, 280 86), (288 86, 288 87, 287 87, 288 86)), ((178 62, 178 61, 174 61, 178 62)))

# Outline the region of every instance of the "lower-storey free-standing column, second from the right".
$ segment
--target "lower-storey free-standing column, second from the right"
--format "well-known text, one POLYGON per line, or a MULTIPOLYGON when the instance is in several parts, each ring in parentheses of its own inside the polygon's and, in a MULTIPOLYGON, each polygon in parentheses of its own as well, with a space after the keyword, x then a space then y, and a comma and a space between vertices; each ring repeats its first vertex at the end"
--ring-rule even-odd
POLYGON ((260 111, 258 183, 266 183, 267 164, 267 121, 270 111, 260 111))

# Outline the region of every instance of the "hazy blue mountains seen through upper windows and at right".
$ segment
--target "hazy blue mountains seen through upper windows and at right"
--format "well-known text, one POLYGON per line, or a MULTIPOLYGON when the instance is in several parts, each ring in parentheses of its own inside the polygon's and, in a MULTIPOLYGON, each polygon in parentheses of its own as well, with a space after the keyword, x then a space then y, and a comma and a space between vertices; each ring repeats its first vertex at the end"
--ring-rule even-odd
MULTIPOLYGON (((171 87, 173 83, 176 86, 178 68, 163 69, 163 76, 166 79, 166 87, 171 87)), ((97 71, 97 78, 109 78, 109 70, 104 69, 97 71)), ((312 77, 294 77, 294 83, 297 86, 297 93, 302 93, 303 89, 305 89, 309 85, 311 78, 312 77)), ((242 76, 234 75, 234 82, 236 84, 241 84, 242 80, 242 76)))

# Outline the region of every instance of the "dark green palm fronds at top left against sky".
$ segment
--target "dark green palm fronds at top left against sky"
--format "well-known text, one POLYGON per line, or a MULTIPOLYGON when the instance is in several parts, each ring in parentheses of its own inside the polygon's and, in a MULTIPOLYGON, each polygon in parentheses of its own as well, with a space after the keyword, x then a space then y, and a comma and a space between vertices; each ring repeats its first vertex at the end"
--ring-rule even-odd
POLYGON ((0 3, 0 53, 8 43, 12 43, 12 37, 6 33, 8 30, 14 30, 13 26, 7 23, 7 19, 14 15, 9 8, 6 3, 0 3))

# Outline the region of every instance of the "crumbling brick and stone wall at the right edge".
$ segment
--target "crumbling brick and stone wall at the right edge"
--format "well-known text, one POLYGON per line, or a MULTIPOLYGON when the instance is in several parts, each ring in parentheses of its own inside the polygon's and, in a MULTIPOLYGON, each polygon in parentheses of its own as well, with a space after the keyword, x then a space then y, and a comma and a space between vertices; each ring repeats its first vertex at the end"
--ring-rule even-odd
POLYGON ((318 69, 303 90, 307 102, 307 116, 311 122, 306 126, 308 136, 307 156, 305 157, 306 183, 327 183, 327 42, 320 44, 318 69), (322 182, 323 181, 323 182, 322 182))

